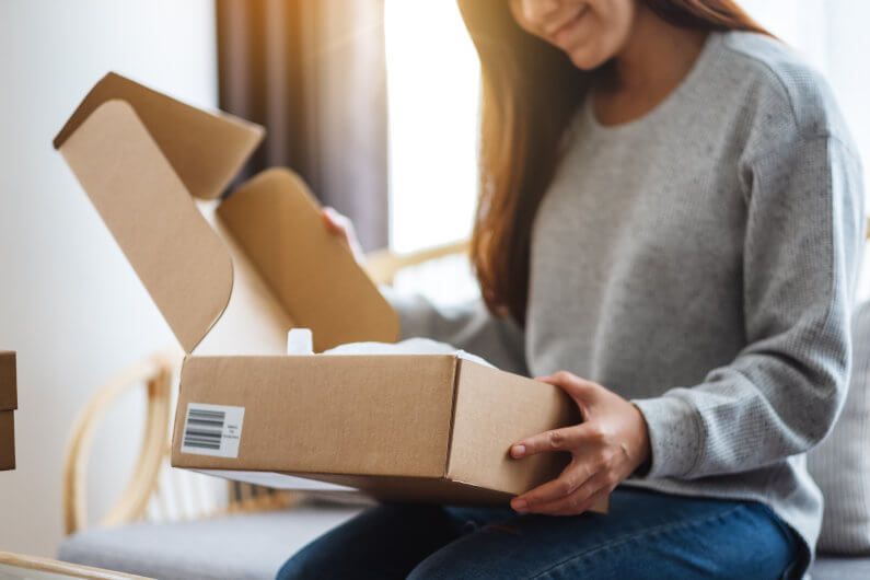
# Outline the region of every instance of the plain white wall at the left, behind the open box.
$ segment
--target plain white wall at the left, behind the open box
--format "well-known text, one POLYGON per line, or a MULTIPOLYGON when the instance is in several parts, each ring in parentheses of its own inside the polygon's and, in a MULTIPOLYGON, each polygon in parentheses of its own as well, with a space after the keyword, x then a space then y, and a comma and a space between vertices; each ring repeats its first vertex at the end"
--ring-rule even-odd
MULTIPOLYGON (((0 2, 0 349, 19 352, 18 469, 0 473, 0 550, 51 556, 76 415, 106 379, 174 344, 51 139, 108 70, 217 101, 211 0, 0 2)), ((97 434, 90 512, 129 473, 141 397, 97 434)))

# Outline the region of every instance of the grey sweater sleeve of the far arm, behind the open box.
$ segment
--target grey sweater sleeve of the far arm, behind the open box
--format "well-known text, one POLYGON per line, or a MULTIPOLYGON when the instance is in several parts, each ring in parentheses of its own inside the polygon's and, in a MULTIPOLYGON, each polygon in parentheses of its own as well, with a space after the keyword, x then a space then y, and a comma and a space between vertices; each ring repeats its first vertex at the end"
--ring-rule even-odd
POLYGON ((419 294, 402 294, 390 287, 381 292, 399 317, 402 339, 425 337, 448 343, 483 357, 499 369, 526 375, 522 329, 507 318, 497 318, 477 299, 440 306, 419 294))

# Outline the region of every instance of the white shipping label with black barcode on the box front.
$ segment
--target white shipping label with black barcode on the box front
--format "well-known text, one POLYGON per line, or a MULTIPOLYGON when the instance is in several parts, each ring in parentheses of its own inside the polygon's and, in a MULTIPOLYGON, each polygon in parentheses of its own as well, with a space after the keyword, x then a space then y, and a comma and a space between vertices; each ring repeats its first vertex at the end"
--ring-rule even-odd
POLYGON ((182 453, 237 457, 244 407, 188 403, 182 453))

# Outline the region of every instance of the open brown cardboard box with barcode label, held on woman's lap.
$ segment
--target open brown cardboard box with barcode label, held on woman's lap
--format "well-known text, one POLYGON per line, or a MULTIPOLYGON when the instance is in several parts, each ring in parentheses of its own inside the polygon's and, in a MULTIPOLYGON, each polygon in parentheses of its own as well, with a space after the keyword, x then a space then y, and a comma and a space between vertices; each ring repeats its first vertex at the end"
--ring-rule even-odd
POLYGON ((556 387, 444 355, 285 355, 294 326, 322 351, 395 341, 398 318, 289 170, 214 201, 263 135, 111 73, 55 139, 187 353, 172 465, 480 504, 558 475, 564 455, 508 455, 578 420, 556 387))

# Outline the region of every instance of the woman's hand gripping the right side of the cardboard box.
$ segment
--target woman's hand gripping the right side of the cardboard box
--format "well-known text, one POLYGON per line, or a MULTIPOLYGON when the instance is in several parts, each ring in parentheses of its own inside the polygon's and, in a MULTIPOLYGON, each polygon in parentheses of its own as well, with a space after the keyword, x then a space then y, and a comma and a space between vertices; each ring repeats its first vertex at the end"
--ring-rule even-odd
POLYGON ((571 463, 558 478, 513 498, 511 507, 520 512, 550 515, 582 513, 649 459, 647 421, 628 401, 569 372, 537 380, 568 393, 580 407, 583 422, 513 444, 514 459, 567 451, 571 463))

